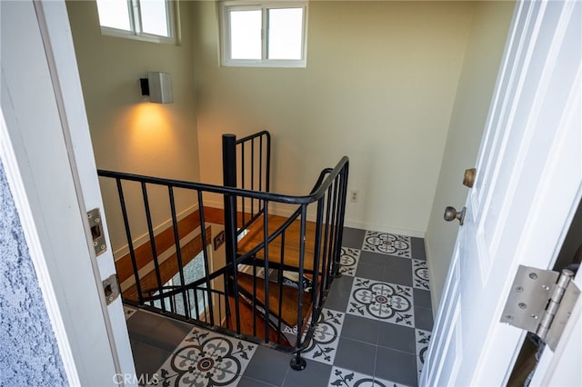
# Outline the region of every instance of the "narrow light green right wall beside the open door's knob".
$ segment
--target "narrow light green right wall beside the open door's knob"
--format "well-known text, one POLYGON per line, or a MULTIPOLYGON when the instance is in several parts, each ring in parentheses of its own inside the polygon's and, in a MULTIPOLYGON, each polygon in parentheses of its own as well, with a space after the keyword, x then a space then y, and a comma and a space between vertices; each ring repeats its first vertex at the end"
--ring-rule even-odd
POLYGON ((437 191, 426 228, 426 256, 435 313, 459 227, 457 222, 446 223, 443 213, 447 205, 460 210, 466 202, 468 188, 462 185, 463 176, 465 170, 473 168, 477 162, 514 5, 514 2, 475 4, 437 191))

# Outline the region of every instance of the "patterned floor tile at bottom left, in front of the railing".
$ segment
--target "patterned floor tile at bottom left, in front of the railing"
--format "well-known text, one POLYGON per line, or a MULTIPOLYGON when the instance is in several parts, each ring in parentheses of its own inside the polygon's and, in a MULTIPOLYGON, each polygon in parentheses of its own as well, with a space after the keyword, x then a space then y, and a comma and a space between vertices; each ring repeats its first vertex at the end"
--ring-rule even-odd
POLYGON ((156 372, 162 386, 236 385, 256 344, 194 328, 156 372))

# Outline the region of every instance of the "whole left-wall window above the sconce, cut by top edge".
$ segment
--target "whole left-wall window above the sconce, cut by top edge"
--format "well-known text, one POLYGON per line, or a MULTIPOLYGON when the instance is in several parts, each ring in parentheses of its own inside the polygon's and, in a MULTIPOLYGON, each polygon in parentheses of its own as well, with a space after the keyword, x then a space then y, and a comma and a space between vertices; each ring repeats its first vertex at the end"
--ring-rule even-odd
POLYGON ((105 35, 175 42, 173 1, 97 0, 97 11, 105 35))

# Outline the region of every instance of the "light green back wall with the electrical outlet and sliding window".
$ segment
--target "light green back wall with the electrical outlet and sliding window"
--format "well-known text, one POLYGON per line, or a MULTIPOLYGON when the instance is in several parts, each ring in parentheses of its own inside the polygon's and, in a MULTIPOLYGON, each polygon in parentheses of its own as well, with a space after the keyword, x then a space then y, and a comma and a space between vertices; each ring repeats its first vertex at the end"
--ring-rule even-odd
POLYGON ((424 236, 474 4, 312 1, 307 67, 221 67, 217 7, 196 2, 201 177, 220 136, 274 135, 274 186, 305 194, 350 158, 346 224, 424 236))

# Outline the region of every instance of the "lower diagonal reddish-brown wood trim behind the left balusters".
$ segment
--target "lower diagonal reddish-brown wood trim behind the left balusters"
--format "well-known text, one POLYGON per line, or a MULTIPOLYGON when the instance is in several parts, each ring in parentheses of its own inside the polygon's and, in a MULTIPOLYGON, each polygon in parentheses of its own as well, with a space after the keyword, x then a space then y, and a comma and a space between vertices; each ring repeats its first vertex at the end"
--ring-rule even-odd
MULTIPOLYGON (((210 226, 206 227, 206 246, 210 246, 210 241, 212 240, 211 236, 211 228, 210 226)), ((198 253, 202 251, 202 235, 198 234, 196 237, 186 243, 184 247, 180 249, 182 254, 182 264, 186 266, 186 264, 190 263, 198 253)), ((160 263, 160 276, 162 277, 162 284, 167 283, 172 277, 178 273, 178 260, 177 260, 177 253, 172 254, 166 261, 160 263)), ((153 289, 157 286, 157 278, 156 278, 156 271, 152 270, 151 272, 147 273, 143 278, 140 278, 139 281, 142 290, 146 289, 153 289)), ((123 293, 124 299, 131 300, 134 302, 138 301, 137 298, 137 287, 135 284, 131 285, 125 292, 123 293)))

